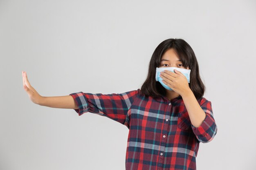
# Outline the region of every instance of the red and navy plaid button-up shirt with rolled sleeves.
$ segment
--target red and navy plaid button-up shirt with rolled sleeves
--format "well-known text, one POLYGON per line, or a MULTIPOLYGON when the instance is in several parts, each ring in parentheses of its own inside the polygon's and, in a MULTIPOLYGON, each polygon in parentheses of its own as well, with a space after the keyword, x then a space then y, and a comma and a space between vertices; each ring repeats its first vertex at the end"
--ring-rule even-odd
POLYGON ((145 97, 140 89, 121 94, 71 93, 76 113, 96 113, 128 129, 126 170, 196 170, 200 142, 213 139, 217 126, 211 102, 198 103, 206 113, 199 127, 191 124, 182 97, 145 97))

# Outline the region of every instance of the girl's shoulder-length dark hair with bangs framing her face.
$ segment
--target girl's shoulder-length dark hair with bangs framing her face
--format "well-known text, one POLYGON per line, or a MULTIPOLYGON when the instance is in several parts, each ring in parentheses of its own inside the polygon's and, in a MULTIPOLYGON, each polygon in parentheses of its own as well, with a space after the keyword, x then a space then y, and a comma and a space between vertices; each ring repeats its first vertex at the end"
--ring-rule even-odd
POLYGON ((205 86, 199 75, 198 62, 195 57, 195 53, 191 46, 183 39, 167 39, 161 42, 151 57, 148 66, 148 77, 146 81, 141 86, 141 93, 146 95, 146 97, 160 97, 161 95, 166 95, 166 90, 155 80, 156 68, 161 64, 161 57, 168 49, 174 49, 175 52, 180 57, 180 60, 184 66, 187 68, 189 66, 190 72, 190 83, 189 88, 195 95, 196 99, 200 99, 204 95, 205 86))

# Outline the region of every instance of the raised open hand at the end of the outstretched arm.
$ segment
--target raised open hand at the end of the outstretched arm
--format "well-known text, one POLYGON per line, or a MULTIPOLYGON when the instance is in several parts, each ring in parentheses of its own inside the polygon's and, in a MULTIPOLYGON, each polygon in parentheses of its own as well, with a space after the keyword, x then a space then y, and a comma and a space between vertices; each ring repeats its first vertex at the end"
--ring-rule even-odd
POLYGON ((27 91, 27 94, 29 95, 30 100, 35 103, 39 104, 40 100, 43 98, 40 96, 36 90, 30 85, 29 80, 27 79, 27 73, 25 71, 22 71, 22 77, 23 77, 23 88, 25 91, 27 91))

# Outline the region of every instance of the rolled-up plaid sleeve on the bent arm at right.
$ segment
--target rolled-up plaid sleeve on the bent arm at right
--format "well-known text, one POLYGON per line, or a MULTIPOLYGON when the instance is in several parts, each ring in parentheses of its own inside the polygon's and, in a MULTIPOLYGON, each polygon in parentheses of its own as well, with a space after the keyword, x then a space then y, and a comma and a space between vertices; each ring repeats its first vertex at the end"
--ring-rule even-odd
POLYGON ((206 100, 201 105, 202 110, 206 114, 204 121, 199 127, 195 127, 191 124, 191 128, 198 139, 202 143, 207 143, 215 137, 217 133, 217 125, 213 118, 213 110, 211 107, 211 102, 206 100))

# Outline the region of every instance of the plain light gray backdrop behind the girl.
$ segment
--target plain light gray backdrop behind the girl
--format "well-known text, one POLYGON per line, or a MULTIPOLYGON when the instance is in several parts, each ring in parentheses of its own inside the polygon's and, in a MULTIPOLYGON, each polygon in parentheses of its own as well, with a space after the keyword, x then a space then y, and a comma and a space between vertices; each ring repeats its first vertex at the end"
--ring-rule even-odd
POLYGON ((0 169, 125 169, 128 128, 93 113, 36 105, 43 96, 123 93, 146 79, 157 45, 195 52, 218 132, 198 170, 253 170, 256 1, 0 0, 0 169))

